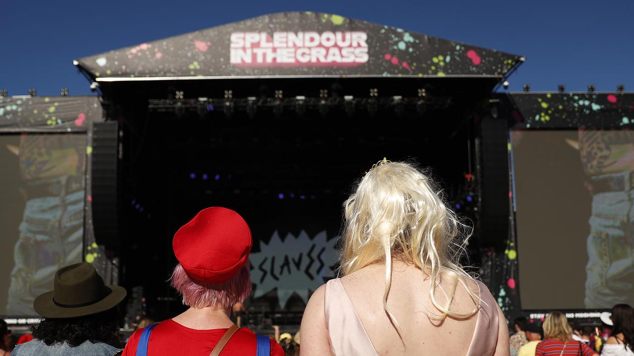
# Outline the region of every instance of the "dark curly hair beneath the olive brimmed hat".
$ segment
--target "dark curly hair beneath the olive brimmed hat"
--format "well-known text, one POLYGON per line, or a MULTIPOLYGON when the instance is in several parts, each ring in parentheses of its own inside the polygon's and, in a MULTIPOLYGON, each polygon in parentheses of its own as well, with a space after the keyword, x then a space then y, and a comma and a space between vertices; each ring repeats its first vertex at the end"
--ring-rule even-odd
POLYGON ((84 341, 119 346, 117 308, 84 317, 42 319, 38 326, 33 327, 33 336, 49 346, 67 342, 69 346, 76 347, 84 341))

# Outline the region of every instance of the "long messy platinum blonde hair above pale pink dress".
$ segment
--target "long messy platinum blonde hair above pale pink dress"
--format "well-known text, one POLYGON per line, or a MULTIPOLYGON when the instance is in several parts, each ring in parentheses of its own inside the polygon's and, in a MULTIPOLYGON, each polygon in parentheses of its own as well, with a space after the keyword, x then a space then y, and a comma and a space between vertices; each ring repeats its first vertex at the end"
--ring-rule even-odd
POLYGON ((413 264, 429 276, 429 298, 439 311, 434 319, 442 321, 447 315, 466 318, 479 306, 479 295, 466 284, 473 277, 459 262, 470 229, 445 205, 441 192, 435 188, 436 184, 413 165, 384 159, 370 169, 344 203, 342 273, 351 274, 375 262, 385 263, 383 307, 401 338, 398 322, 387 308, 392 259, 413 264), (443 276, 451 281, 448 291, 440 285, 443 276), (458 282, 478 302, 469 313, 450 310, 458 282), (437 302, 436 287, 446 296, 445 305, 437 302))

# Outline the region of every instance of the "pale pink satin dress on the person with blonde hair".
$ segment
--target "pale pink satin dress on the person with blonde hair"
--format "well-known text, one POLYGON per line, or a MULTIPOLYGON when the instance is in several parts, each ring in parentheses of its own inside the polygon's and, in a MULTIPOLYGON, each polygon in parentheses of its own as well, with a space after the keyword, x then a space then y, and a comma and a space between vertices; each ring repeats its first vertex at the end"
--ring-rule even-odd
MULTIPOLYGON (((498 310, 489 290, 477 281, 483 303, 467 356, 491 356, 498 343, 498 310)), ((326 283, 324 301, 328 340, 335 356, 378 356, 339 278, 326 283)))

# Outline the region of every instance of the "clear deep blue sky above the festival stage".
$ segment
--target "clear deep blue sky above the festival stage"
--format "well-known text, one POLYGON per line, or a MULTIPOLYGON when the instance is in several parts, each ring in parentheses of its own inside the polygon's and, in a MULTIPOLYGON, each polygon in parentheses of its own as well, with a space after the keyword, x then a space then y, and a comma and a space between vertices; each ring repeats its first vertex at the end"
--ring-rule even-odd
POLYGON ((634 1, 6 1, 0 88, 91 94, 72 60, 279 11, 310 10, 522 54, 510 89, 634 91, 634 1))

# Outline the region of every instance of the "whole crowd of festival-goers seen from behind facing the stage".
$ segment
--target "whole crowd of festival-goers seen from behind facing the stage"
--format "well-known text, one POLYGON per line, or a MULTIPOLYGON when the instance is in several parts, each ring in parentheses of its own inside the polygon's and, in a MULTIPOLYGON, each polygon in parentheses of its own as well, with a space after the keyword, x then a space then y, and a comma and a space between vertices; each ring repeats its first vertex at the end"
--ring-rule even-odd
POLYGON ((551 312, 541 324, 515 320, 509 337, 488 288, 460 265, 469 228, 440 191, 409 163, 384 159, 366 172, 344 203, 340 277, 314 291, 301 338, 279 327, 273 338, 259 335, 232 320, 244 317, 252 286, 252 236, 238 213, 211 207, 172 242, 178 264, 169 283, 185 312, 146 321, 121 345, 117 305, 126 289, 106 285, 91 264, 68 265, 34 302, 43 319, 33 339, 11 355, 634 355, 629 305, 612 308, 607 336, 551 312))

